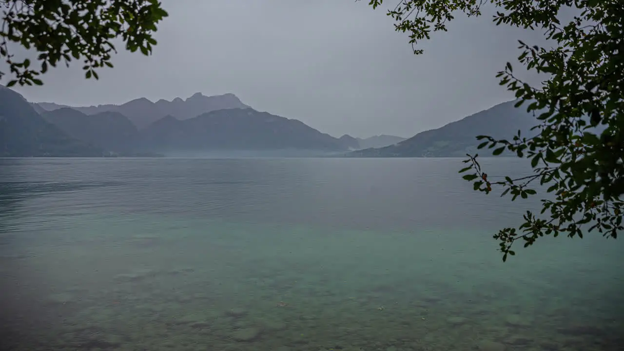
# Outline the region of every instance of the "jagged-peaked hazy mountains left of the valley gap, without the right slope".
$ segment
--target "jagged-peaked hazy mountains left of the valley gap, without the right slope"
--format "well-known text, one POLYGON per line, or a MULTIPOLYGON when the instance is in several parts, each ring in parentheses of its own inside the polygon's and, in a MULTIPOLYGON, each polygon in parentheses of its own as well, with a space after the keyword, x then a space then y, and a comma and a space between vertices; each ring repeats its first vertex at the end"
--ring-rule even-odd
MULTIPOLYGON (((0 156, 154 156, 213 151, 290 151, 323 156, 374 145, 336 138, 296 119, 260 112, 234 94, 72 107, 32 103, 0 89, 0 156), (305 151, 305 152, 303 152, 305 151)), ((394 139, 392 139, 394 140, 394 139)))

